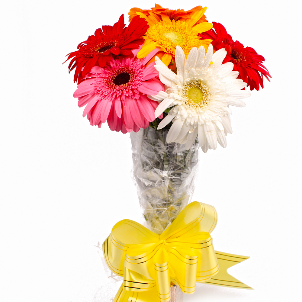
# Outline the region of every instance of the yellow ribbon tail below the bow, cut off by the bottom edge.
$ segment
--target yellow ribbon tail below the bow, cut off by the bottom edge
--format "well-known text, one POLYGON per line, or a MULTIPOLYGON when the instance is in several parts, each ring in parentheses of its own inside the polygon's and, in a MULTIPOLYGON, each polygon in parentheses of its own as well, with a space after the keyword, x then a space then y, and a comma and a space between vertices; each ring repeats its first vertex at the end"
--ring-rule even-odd
POLYGON ((125 291, 123 284, 120 286, 113 302, 160 302, 156 287, 149 291, 125 291))

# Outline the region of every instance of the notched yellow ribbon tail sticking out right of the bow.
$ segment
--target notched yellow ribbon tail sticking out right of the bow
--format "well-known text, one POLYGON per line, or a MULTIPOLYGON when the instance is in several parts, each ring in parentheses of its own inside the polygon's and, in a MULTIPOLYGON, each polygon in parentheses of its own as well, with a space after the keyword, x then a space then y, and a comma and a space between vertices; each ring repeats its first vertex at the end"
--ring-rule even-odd
POLYGON ((249 257, 228 254, 228 253, 223 253, 223 252, 217 252, 217 251, 215 251, 215 253, 216 253, 218 265, 220 268, 219 272, 214 276, 214 278, 211 278, 209 281, 205 281, 204 283, 219 285, 219 286, 226 286, 226 287, 233 287, 233 288, 253 289, 253 288, 249 287, 248 285, 240 282, 233 276, 229 275, 226 271, 231 266, 236 265, 240 262, 243 262, 246 259, 249 259, 249 257))

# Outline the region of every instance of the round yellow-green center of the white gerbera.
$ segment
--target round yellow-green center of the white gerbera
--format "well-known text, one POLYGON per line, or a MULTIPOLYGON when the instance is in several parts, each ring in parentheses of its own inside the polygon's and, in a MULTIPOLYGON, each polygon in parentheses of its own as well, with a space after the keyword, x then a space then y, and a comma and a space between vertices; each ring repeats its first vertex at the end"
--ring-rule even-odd
POLYGON ((188 108, 204 109, 209 105, 210 97, 209 88, 201 80, 191 80, 183 87, 182 98, 188 108))

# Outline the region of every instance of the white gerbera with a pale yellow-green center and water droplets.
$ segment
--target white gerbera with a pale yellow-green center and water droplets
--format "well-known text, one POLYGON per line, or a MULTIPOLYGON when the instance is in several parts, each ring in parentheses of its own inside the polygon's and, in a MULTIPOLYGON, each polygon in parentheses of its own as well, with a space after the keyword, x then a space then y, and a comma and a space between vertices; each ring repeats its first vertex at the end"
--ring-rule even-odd
POLYGON ((226 56, 224 48, 213 54, 210 44, 206 56, 204 54, 203 46, 198 50, 193 47, 186 60, 182 48, 177 46, 177 75, 156 57, 155 68, 166 90, 149 97, 162 101, 155 117, 174 106, 158 126, 161 129, 173 121, 167 143, 186 144, 188 150, 198 135, 201 149, 207 152, 207 149, 216 149, 217 141, 226 147, 226 135, 232 133, 229 105, 246 106, 240 99, 249 97, 250 92, 241 90, 247 84, 237 79, 239 72, 232 71, 233 63, 222 64, 226 56))

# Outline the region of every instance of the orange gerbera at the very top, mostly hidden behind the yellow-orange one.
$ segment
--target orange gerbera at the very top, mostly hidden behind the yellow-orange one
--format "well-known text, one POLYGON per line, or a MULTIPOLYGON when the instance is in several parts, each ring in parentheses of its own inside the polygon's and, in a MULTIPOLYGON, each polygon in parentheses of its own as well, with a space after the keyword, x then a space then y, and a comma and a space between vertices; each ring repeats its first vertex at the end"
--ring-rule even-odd
POLYGON ((171 20, 174 19, 175 21, 185 21, 186 19, 191 19, 194 14, 200 14, 200 11, 203 11, 200 19, 196 21, 196 23, 198 24, 202 22, 208 22, 206 16, 204 15, 206 9, 206 7, 203 8, 202 6, 198 5, 188 11, 184 11, 183 9, 172 10, 169 8, 163 8, 159 4, 155 4, 155 7, 152 7, 151 9, 140 9, 133 7, 130 9, 128 14, 129 20, 132 20, 135 16, 137 16, 137 12, 140 12, 147 17, 150 15, 150 13, 156 14, 160 18, 160 20, 162 20, 161 16, 164 14, 167 15, 171 20))

